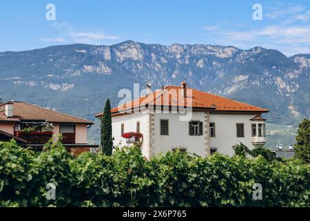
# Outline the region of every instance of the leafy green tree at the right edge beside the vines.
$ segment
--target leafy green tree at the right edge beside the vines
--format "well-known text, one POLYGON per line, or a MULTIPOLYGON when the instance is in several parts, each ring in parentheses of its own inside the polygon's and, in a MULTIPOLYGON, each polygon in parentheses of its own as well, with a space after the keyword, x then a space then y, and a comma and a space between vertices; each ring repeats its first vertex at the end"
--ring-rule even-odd
POLYGON ((297 144, 295 144, 295 156, 310 163, 310 119, 304 119, 298 126, 297 144))

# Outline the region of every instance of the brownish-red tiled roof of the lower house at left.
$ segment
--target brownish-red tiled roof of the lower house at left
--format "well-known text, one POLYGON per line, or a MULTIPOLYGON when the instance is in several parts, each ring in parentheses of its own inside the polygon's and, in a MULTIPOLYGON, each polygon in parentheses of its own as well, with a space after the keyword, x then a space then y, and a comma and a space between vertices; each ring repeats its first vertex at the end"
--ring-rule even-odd
POLYGON ((0 104, 0 122, 19 122, 19 121, 45 121, 59 123, 75 123, 75 124, 93 124, 86 119, 81 119, 57 111, 52 111, 47 108, 27 104, 25 102, 10 102, 13 105, 13 117, 6 117, 5 105, 0 104))

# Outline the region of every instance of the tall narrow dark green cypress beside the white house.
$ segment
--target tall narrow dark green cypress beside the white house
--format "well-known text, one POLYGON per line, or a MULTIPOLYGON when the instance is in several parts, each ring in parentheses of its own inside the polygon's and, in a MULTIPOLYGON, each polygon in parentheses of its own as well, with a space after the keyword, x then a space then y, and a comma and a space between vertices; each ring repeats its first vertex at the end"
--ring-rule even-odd
POLYGON ((112 155, 112 117, 110 99, 105 102, 105 109, 101 119, 101 147, 105 155, 112 155))

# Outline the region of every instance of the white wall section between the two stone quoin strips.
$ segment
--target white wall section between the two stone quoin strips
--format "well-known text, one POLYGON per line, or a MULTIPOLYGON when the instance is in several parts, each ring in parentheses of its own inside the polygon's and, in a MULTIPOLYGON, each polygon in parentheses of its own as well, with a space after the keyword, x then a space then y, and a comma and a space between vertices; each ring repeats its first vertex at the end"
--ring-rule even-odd
MULTIPOLYGON (((203 122, 205 127, 205 113, 193 112, 192 120, 203 122)), ((155 113, 155 154, 172 151, 172 148, 186 148, 188 153, 196 153, 205 157, 205 134, 189 135, 189 122, 180 121, 177 113, 155 113), (169 135, 161 135, 161 119, 169 120, 169 135)))

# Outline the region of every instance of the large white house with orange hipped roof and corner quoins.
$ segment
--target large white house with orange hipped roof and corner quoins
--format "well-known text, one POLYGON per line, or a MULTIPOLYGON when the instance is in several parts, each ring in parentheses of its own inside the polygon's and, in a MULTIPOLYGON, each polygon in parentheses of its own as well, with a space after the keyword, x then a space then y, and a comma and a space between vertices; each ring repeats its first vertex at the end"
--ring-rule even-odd
POLYGON ((232 146, 240 142, 250 149, 265 144, 261 114, 267 112, 187 88, 182 82, 182 86, 165 86, 154 93, 147 88, 145 96, 112 108, 112 134, 114 145, 123 146, 132 143, 124 133, 142 133, 141 148, 147 159, 176 148, 200 156, 214 151, 232 156, 232 146))

